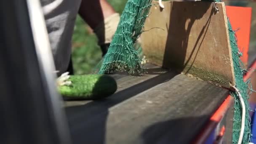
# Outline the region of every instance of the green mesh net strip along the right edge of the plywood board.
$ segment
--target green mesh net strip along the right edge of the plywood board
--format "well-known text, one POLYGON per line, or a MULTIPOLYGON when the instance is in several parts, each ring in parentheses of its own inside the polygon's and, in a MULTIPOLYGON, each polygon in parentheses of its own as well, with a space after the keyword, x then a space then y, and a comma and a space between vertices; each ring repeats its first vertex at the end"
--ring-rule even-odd
MULTIPOLYGON (((249 111, 251 110, 248 103, 248 83, 243 81, 243 72, 244 68, 241 66, 243 63, 240 60, 241 53, 237 47, 237 40, 235 37, 235 31, 232 29, 232 26, 228 20, 229 26, 229 39, 232 48, 232 59, 234 64, 234 72, 235 72, 235 87, 239 90, 242 98, 245 101, 245 132, 243 135, 243 144, 247 144, 251 140, 251 119, 249 116, 249 111)), ((240 131, 241 131, 241 120, 242 120, 242 109, 240 104, 240 99, 238 93, 235 91, 231 91, 231 95, 235 99, 234 106, 234 119, 233 119, 233 143, 237 144, 240 131)))

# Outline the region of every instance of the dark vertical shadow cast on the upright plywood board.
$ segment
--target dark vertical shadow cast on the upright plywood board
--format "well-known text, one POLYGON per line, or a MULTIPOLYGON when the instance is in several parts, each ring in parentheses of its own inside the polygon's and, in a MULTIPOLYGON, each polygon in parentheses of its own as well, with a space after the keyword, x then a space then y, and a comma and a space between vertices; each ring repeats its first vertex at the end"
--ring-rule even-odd
POLYGON ((195 62, 195 59, 197 58, 197 54, 202 46, 203 40, 211 22, 211 17, 215 10, 211 10, 211 14, 209 15, 209 18, 205 22, 204 26, 200 29, 197 29, 199 34, 196 37, 195 45, 190 50, 191 52, 189 52, 190 54, 186 59, 187 48, 189 47, 189 36, 193 35, 190 33, 192 26, 196 20, 203 18, 204 14, 212 5, 211 3, 206 3, 205 6, 200 9, 183 6, 184 9, 181 10, 179 9, 181 4, 182 3, 173 3, 172 5, 169 27, 167 29, 168 36, 163 57, 163 67, 176 67, 177 71, 188 74, 189 70, 195 62))

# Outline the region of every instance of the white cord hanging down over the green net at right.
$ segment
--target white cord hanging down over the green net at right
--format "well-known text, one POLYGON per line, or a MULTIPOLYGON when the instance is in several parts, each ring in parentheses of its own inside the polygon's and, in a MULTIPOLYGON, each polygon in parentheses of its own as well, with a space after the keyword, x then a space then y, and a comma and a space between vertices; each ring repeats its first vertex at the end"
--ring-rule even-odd
POLYGON ((242 144, 243 141, 243 133, 245 131, 245 102, 243 101, 243 98, 239 92, 239 90, 233 86, 233 88, 235 88, 235 91, 238 93, 239 99, 240 99, 240 103, 242 105, 242 123, 241 123, 241 131, 240 131, 240 136, 238 139, 238 143, 237 144, 242 144))

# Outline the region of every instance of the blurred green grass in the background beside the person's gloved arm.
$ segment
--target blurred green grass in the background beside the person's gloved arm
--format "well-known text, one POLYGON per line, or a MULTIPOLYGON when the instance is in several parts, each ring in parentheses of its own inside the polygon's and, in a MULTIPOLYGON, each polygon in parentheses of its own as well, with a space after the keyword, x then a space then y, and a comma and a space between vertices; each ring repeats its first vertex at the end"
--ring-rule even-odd
MULTIPOLYGON (((115 11, 122 13, 127 0, 108 0, 115 11)), ((90 33, 83 19, 77 16, 72 37, 72 60, 75 74, 92 73, 92 69, 101 61, 101 50, 96 35, 90 33)))

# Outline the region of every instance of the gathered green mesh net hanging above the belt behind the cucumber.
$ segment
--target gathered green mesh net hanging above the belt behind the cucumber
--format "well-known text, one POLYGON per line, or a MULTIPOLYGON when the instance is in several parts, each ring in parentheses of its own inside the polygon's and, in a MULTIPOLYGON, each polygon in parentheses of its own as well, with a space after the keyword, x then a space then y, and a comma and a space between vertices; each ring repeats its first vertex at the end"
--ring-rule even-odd
POLYGON ((128 0, 99 74, 125 71, 137 75, 142 72, 141 56, 134 48, 134 43, 143 31, 151 2, 152 0, 128 0))

